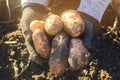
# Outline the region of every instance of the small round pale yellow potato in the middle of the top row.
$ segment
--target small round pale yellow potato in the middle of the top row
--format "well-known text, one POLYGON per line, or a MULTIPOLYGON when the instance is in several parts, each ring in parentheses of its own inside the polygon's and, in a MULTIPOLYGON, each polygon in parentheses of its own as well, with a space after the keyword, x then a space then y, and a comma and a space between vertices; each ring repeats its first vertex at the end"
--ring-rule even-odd
POLYGON ((56 35, 63 28, 63 22, 58 15, 51 14, 46 19, 45 30, 49 35, 56 35))

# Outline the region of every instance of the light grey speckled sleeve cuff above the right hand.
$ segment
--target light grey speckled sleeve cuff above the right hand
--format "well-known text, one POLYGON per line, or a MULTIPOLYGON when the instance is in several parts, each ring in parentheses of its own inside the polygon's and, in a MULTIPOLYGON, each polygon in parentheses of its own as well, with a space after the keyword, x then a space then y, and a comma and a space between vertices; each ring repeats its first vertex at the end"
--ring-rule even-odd
POLYGON ((78 11, 86 13, 99 22, 108 7, 110 0, 81 0, 78 11))

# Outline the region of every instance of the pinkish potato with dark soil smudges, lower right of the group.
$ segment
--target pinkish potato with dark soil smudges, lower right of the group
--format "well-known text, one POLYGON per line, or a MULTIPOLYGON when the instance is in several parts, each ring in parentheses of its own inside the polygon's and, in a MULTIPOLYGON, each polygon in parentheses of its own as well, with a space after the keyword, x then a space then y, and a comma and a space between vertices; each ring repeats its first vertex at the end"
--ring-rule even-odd
POLYGON ((88 63, 89 52, 84 47, 82 40, 72 38, 70 41, 70 52, 68 62, 72 70, 78 70, 88 63))

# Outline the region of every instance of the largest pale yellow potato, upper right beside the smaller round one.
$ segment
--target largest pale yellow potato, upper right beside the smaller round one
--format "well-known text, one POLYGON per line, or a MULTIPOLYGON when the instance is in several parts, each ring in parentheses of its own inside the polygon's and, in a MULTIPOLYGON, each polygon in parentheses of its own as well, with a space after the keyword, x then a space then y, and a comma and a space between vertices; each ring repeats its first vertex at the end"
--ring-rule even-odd
POLYGON ((84 32, 85 24, 79 13, 77 13, 77 11, 65 11, 62 13, 61 19, 64 23, 64 30, 71 37, 77 37, 84 32))

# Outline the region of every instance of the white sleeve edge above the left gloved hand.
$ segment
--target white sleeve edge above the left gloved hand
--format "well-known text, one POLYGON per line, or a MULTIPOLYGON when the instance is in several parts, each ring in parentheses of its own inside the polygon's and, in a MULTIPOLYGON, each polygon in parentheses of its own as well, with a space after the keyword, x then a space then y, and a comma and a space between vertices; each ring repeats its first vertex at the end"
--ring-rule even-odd
POLYGON ((21 4, 24 5, 24 4, 28 4, 28 3, 38 3, 38 4, 41 4, 41 5, 44 5, 44 6, 47 6, 48 5, 48 0, 21 0, 21 4))

